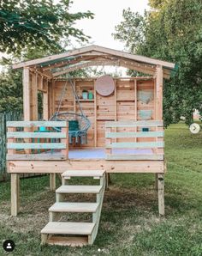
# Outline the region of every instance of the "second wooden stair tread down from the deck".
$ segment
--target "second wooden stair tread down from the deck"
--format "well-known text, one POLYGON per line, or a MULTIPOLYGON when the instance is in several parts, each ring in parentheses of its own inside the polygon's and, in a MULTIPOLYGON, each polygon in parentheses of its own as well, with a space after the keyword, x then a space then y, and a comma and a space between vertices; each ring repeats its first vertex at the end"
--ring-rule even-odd
POLYGON ((74 186, 62 185, 56 189, 56 193, 94 193, 98 194, 103 186, 74 186))

